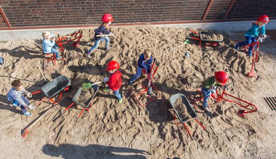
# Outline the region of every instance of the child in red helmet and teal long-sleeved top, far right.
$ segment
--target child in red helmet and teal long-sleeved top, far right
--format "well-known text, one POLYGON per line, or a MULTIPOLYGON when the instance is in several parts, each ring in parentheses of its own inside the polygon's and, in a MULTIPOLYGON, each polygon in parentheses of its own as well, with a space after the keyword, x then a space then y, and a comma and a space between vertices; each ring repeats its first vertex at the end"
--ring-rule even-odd
MULTIPOLYGON (((258 20, 255 23, 252 23, 251 29, 249 29, 245 33, 246 41, 240 42, 235 46, 236 50, 239 50, 239 48, 243 48, 244 46, 256 42, 256 38, 258 37, 258 34, 261 32, 261 38, 266 37, 266 29, 265 25, 269 22, 269 17, 267 15, 262 15, 258 18, 258 20)), ((255 45, 256 46, 256 45, 255 45)), ((254 47, 255 47, 254 46, 254 47)), ((248 49, 248 55, 253 55, 253 47, 250 46, 248 49)))

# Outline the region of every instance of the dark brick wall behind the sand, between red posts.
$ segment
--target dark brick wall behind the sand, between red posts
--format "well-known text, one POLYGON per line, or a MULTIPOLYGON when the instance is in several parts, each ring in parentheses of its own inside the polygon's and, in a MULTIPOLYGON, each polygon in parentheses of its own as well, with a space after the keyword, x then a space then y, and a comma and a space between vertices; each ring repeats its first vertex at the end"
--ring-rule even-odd
MULTIPOLYGON (((114 16, 114 23, 201 20, 209 1, 0 0, 0 5, 11 26, 20 27, 101 23, 106 12, 114 16)), ((214 0, 206 19, 222 19, 230 3, 231 0, 214 0)), ((276 0, 236 0, 227 18, 257 17, 263 13, 276 17, 275 9, 276 0), (265 4, 259 5, 259 1, 265 4)))

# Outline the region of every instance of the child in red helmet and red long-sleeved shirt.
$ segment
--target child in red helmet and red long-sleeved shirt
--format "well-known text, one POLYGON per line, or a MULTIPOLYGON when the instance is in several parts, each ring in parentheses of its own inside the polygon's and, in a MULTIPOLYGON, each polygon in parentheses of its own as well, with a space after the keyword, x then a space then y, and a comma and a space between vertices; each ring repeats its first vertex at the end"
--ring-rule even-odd
POLYGON ((119 103, 122 103, 123 98, 119 93, 120 87, 122 86, 122 73, 118 70, 120 68, 120 64, 117 61, 110 61, 107 64, 106 71, 108 71, 109 78, 104 78, 104 82, 107 82, 108 86, 104 89, 104 91, 113 90, 113 94, 119 100, 119 103))

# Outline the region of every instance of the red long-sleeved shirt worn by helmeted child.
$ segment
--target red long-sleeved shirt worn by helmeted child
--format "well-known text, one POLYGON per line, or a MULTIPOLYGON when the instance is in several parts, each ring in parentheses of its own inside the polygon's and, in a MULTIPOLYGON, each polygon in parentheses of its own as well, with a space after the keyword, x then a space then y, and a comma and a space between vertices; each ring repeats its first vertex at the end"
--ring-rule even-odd
POLYGON ((114 74, 112 74, 109 77, 107 84, 110 89, 116 91, 120 89, 120 87, 122 86, 122 82, 123 82, 122 73, 119 70, 117 70, 114 74))

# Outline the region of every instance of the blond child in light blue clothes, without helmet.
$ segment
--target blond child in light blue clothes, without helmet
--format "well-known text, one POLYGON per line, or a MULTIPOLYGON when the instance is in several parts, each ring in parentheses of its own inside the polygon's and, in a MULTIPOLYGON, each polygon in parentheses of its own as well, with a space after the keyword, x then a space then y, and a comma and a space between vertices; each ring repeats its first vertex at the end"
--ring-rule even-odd
POLYGON ((45 54, 54 53, 56 55, 56 59, 60 59, 58 46, 55 43, 55 37, 54 37, 57 34, 58 32, 54 34, 50 34, 48 31, 44 31, 42 33, 42 37, 43 37, 42 48, 45 54))

